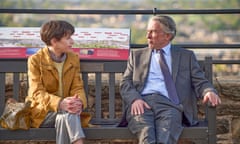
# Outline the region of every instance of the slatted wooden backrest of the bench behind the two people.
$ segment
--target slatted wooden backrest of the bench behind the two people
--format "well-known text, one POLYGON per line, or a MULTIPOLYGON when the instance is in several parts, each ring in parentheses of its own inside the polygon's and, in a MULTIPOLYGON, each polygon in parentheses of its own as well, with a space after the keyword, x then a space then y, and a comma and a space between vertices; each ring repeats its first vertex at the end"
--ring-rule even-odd
MULTIPOLYGON (((102 60, 81 60, 80 62, 81 75, 89 102, 87 110, 94 113, 92 123, 116 124, 123 110, 118 86, 127 62, 102 60), (119 109, 120 112, 117 112, 119 109)), ((200 60, 199 64, 206 77, 212 82, 211 58, 200 60)), ((26 59, 0 59, 0 114, 3 112, 9 85, 12 85, 10 88, 12 93, 8 94, 10 97, 21 100, 20 95, 27 95, 26 73, 26 59)))

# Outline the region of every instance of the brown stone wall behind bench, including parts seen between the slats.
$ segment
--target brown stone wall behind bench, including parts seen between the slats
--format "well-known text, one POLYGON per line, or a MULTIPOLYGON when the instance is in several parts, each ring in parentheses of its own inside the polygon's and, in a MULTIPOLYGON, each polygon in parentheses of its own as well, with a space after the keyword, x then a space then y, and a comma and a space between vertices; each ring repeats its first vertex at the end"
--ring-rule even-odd
MULTIPOLYGON (((214 86, 219 92, 222 99, 222 104, 217 107, 217 144, 239 144, 240 143, 240 78, 232 77, 218 77, 214 80, 214 86)), ((118 86, 116 86, 116 111, 117 117, 121 117, 121 102, 118 86)), ((7 97, 11 96, 12 86, 7 85, 7 97)), ((24 99, 26 85, 22 84, 21 100, 24 99)), ((94 86, 89 86, 89 109, 94 111, 94 86)), ((103 116, 108 116, 108 103, 107 94, 108 87, 103 87, 103 116)), ((199 115, 202 115, 202 111, 199 111, 199 115)), ((0 144, 54 144, 55 142, 33 142, 33 141, 0 141, 0 144)), ((137 144, 135 140, 101 140, 101 141, 86 141, 87 144, 137 144)), ((186 144, 186 140, 181 140, 181 144, 186 144)))

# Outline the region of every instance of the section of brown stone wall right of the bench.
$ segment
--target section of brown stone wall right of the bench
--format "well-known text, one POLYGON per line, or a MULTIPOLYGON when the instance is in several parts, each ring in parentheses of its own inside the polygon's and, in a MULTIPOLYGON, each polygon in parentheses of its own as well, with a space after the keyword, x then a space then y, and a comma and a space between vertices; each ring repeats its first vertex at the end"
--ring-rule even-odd
POLYGON ((240 143, 240 78, 218 77, 215 86, 222 104, 217 107, 218 144, 240 143))

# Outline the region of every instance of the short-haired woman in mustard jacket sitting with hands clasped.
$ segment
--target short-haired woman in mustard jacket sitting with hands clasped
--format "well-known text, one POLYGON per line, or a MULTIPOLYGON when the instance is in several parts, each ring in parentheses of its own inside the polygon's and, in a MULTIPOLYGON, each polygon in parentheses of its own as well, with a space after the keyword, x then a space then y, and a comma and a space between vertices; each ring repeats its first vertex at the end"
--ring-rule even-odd
POLYGON ((80 114, 87 106, 80 63, 71 51, 74 27, 53 20, 41 27, 46 47, 28 59, 32 127, 56 128, 57 144, 82 144, 85 137, 80 114))

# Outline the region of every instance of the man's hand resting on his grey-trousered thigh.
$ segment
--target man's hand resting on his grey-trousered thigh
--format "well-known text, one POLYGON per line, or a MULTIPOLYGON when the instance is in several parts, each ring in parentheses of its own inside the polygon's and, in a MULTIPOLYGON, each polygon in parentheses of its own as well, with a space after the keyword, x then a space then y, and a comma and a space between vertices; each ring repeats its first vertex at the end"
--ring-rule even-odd
POLYGON ((137 99, 132 103, 131 114, 141 115, 144 113, 144 108, 151 109, 151 107, 142 99, 137 99))

